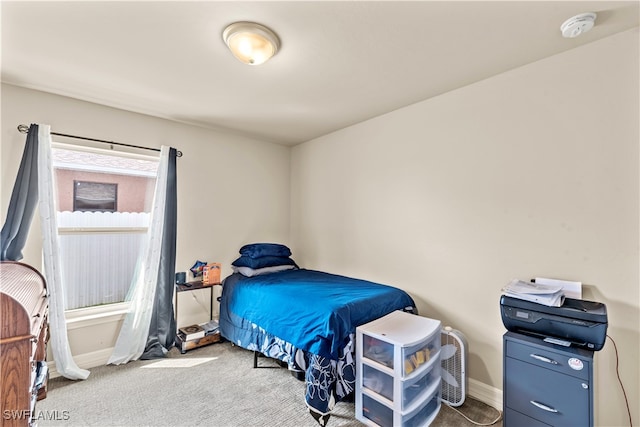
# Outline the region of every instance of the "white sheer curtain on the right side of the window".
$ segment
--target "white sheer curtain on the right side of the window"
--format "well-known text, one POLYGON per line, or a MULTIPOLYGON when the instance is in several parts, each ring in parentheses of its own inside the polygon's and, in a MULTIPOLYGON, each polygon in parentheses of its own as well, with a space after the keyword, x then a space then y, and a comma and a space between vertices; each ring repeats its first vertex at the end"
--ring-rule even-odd
POLYGON ((147 343, 162 249, 169 149, 170 147, 162 146, 160 150, 149 231, 127 295, 127 301, 130 302, 129 311, 109 358, 109 364, 119 365, 139 359, 147 343))

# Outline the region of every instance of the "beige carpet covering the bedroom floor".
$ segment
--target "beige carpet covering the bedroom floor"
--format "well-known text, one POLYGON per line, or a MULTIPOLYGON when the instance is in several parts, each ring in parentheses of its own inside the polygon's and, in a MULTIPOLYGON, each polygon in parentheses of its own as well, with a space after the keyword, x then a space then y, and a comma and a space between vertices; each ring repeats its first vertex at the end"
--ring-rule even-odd
MULTIPOLYGON (((317 427, 304 402, 304 383, 275 361, 228 342, 167 359, 91 369, 85 381, 54 378, 36 405, 38 426, 291 426, 317 427), (270 367, 273 366, 273 367, 270 367)), ((467 398, 457 408, 481 423, 499 412, 467 398)), ((337 404, 329 427, 362 426, 355 405, 337 404)), ((442 406, 433 426, 474 426, 442 406)), ((496 426, 502 426, 499 421, 496 426)))

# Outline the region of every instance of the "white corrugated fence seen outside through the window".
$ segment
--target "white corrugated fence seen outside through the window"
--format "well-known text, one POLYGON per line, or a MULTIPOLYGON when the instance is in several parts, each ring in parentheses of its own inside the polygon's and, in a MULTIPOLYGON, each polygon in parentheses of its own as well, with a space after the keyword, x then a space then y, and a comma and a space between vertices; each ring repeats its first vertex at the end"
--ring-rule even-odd
POLYGON ((148 213, 59 212, 65 309, 124 301, 148 213))

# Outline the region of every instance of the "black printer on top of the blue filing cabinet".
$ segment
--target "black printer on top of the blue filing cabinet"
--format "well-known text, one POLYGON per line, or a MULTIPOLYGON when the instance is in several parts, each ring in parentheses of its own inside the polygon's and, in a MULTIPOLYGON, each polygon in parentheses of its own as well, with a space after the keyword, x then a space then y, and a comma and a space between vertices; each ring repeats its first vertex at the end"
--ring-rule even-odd
POLYGON ((500 313, 509 331, 566 347, 600 350, 607 337, 607 307, 600 302, 565 298, 550 307, 502 295, 500 313))

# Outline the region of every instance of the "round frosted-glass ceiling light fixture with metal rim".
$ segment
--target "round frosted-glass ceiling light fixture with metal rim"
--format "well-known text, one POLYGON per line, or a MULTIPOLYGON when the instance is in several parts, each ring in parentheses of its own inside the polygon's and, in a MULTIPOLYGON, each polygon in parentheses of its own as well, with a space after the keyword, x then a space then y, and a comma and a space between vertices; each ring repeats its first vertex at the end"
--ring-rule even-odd
POLYGON ((235 22, 224 29, 222 39, 241 62, 260 65, 278 52, 280 39, 255 22, 235 22))

